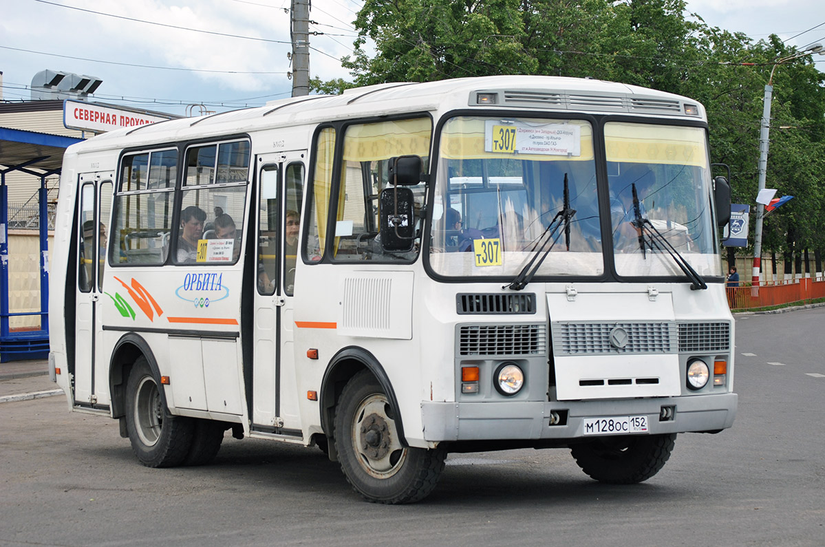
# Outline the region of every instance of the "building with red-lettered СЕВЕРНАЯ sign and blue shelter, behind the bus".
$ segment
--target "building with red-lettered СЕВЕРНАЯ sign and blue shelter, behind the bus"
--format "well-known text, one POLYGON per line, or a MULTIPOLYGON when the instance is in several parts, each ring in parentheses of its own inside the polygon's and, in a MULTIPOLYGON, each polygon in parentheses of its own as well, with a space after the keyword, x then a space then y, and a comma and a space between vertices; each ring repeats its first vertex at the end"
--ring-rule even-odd
POLYGON ((64 150, 98 133, 179 117, 83 101, 96 78, 54 71, 35 78, 44 82, 32 81, 33 99, 35 92, 60 98, 0 101, 0 361, 48 353, 49 239, 64 150))

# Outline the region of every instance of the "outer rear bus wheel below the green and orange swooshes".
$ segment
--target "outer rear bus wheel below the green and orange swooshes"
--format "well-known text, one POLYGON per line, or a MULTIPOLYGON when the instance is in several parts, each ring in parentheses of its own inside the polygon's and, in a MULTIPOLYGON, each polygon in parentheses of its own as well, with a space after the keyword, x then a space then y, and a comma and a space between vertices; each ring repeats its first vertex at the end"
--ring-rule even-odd
POLYGON ((126 382, 126 431, 141 464, 174 467, 189 453, 194 426, 191 418, 169 413, 159 385, 146 358, 140 356, 126 382))

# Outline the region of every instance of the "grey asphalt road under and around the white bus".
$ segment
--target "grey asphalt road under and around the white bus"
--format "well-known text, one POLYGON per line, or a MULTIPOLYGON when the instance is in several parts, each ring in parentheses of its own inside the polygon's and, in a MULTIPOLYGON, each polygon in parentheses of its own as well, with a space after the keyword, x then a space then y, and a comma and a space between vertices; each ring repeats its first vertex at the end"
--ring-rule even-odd
POLYGON ((317 449, 227 435, 212 465, 147 469, 63 397, 0 403, 0 545, 825 545, 825 308, 736 328, 733 428, 631 487, 568 450, 450 455, 424 502, 384 507, 317 449))

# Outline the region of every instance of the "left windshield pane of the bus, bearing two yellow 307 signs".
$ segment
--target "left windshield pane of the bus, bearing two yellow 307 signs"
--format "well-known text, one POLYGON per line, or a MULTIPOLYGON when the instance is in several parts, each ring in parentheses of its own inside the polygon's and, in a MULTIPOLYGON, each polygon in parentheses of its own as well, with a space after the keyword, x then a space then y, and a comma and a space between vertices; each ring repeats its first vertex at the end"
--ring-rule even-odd
POLYGON ((436 274, 516 276, 551 249, 537 275, 601 276, 589 123, 455 117, 441 130, 438 162, 430 247, 436 274))

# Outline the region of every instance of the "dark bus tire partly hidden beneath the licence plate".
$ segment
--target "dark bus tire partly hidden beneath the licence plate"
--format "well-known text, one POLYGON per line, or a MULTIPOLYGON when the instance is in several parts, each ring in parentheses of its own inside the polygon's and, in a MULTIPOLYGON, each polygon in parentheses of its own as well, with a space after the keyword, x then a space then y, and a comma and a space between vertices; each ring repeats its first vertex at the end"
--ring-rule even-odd
POLYGON ((676 433, 614 436, 574 445, 573 458, 600 483, 634 484, 653 477, 670 458, 676 433))

